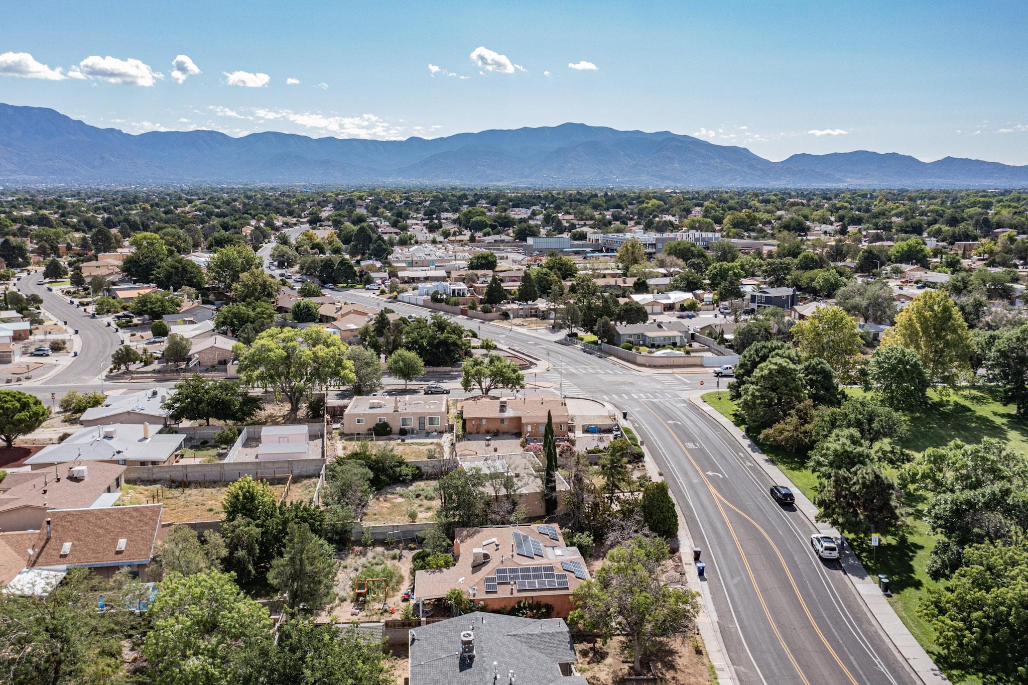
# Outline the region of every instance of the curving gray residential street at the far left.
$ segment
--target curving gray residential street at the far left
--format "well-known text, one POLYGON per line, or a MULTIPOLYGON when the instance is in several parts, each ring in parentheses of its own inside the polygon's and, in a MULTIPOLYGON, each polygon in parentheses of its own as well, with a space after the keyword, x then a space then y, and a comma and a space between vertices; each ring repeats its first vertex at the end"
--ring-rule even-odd
POLYGON ((69 304, 67 297, 48 291, 45 285, 37 285, 40 278, 42 271, 26 274, 15 287, 25 295, 40 295, 43 298, 43 309, 53 318, 67 321, 69 326, 77 328, 82 339, 78 357, 53 375, 47 376, 45 384, 78 386, 99 383, 101 373, 111 364, 111 354, 121 344, 118 329, 113 325, 108 328, 105 320, 90 318, 84 310, 69 304))

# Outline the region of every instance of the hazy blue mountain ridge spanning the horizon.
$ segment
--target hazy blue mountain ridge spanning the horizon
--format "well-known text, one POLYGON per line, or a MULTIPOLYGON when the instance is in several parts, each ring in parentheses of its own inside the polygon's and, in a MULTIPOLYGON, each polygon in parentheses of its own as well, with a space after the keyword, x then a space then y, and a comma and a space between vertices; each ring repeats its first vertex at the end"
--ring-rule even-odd
POLYGON ((794 154, 584 123, 377 141, 276 132, 131 135, 0 104, 5 184, 393 184, 509 187, 1028 187, 1028 166, 894 152, 794 154))

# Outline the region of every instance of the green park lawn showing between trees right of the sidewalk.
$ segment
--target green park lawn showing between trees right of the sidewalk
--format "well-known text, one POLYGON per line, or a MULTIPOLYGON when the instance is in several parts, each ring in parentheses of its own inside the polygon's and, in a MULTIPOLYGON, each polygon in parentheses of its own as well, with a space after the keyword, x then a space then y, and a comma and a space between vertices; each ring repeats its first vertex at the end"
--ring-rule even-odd
MULTIPOLYGON (((846 393, 854 397, 865 396, 862 390, 847 389, 846 393)), ((923 452, 951 440, 977 443, 983 438, 992 437, 1002 440, 1012 449, 1028 453, 1028 422, 1016 419, 1013 406, 1000 404, 994 388, 966 388, 947 398, 938 398, 932 393, 931 399, 924 407, 905 412, 908 432, 895 440, 895 444, 913 452, 923 452)), ((735 414, 735 402, 728 399, 728 392, 705 393, 703 400, 737 426, 741 426, 741 421, 735 414)), ((759 441, 758 444, 804 495, 813 498, 817 478, 807 468, 805 457, 790 455, 774 445, 764 445, 759 441)), ((928 588, 940 584, 924 572, 935 538, 928 532, 923 520, 926 500, 915 496, 908 503, 914 513, 910 529, 904 535, 884 536, 883 545, 877 550, 871 546, 870 540, 847 540, 868 573, 873 576, 879 573, 888 576, 893 592, 890 600, 892 608, 918 642, 932 652, 934 632, 917 614, 917 606, 928 588)), ((970 675, 949 675, 955 682, 979 682, 977 677, 970 675)))

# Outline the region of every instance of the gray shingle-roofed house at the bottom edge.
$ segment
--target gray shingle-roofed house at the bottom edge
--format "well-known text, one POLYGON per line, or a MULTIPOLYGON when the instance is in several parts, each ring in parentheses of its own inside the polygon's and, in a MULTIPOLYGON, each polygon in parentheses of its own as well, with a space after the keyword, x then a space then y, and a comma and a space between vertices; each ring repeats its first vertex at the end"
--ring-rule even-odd
POLYGON ((562 618, 482 611, 411 628, 410 685, 588 685, 562 618))

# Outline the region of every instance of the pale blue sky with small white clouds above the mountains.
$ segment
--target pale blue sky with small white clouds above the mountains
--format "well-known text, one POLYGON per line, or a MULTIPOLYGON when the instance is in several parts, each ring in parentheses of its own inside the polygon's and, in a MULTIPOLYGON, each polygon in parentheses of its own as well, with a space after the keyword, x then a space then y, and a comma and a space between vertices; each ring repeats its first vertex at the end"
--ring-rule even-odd
POLYGON ((3 24, 0 102, 130 133, 582 121, 1028 164, 1028 3, 54 1, 3 24))

